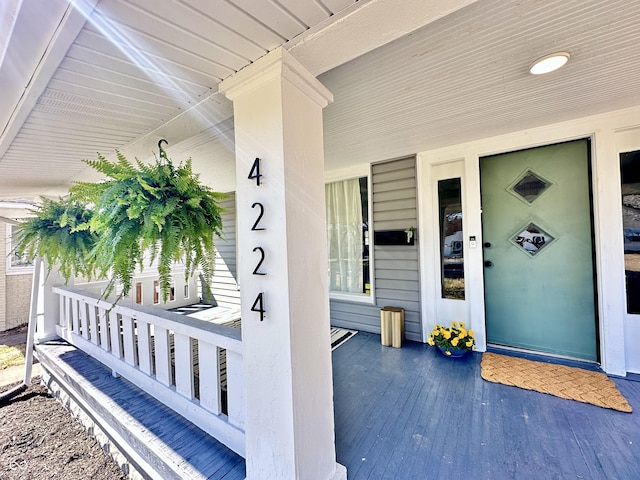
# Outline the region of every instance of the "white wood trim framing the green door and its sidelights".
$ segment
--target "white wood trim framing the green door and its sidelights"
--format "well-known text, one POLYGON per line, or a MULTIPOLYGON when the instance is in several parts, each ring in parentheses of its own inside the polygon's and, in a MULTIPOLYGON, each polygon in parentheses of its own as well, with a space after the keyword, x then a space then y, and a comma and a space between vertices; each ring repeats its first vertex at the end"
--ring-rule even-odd
MULTIPOLYGON (((433 186, 442 169, 460 168, 463 178, 463 228, 467 252, 466 299, 457 301, 460 305, 456 307, 455 314, 458 320, 466 321, 474 329, 477 333, 477 348, 484 351, 486 329, 479 159, 486 155, 579 138, 592 140, 595 264, 602 368, 613 375, 640 373, 640 348, 634 342, 634 339, 640 338, 640 315, 626 313, 619 160, 621 151, 640 149, 640 108, 585 117, 419 153, 418 195, 419 204, 423 206, 420 210, 419 228, 422 232, 437 234, 437 229, 433 228, 436 221, 433 209, 424 206, 432 204, 434 198, 437 201, 437 191, 434 192, 433 186), (446 167, 446 164, 452 165, 446 167), (470 248, 470 236, 476 237, 476 248, 470 248), (462 318, 463 316, 466 318, 462 318)), ((433 235, 423 234, 420 244, 421 258, 438 258, 437 238, 433 235)), ((436 312, 442 315, 442 312, 446 312, 450 307, 445 304, 446 300, 439 299, 436 295, 439 281, 437 265, 439 263, 425 261, 421 271, 425 338, 434 323, 433 319, 438 318, 436 312)))

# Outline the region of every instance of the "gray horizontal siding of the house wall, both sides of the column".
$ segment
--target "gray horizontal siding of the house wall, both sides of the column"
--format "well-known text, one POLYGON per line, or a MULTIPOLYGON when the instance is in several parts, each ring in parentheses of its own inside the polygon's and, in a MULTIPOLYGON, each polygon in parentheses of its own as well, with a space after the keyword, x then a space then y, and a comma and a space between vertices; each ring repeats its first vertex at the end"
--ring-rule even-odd
MULTIPOLYGON (((374 230, 404 230, 417 225, 415 159, 372 166, 374 230), (402 190, 394 190, 402 185, 402 190), (377 188, 376 188, 377 187, 377 188)), ((216 270, 211 285, 220 305, 240 305, 236 281, 235 198, 222 202, 224 238, 216 239, 216 270)), ((373 238, 373 235, 371 235, 373 238)), ((331 324, 371 333, 380 333, 380 309, 405 310, 405 332, 410 340, 421 341, 420 282, 418 247, 373 246, 375 304, 331 300, 331 324)))

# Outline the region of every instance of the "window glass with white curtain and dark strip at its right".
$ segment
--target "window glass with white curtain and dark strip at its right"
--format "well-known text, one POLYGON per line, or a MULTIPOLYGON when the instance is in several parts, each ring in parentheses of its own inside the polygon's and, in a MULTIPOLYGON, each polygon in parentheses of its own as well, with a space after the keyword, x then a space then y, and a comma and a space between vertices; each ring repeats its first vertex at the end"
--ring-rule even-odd
POLYGON ((367 177, 325 185, 329 292, 369 296, 369 188, 367 177))

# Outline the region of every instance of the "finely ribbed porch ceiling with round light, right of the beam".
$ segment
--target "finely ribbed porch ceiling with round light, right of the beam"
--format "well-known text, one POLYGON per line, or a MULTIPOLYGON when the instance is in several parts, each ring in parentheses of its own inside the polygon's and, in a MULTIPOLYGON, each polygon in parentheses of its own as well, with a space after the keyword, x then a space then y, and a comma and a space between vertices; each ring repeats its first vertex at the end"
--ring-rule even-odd
POLYGON ((640 1, 481 0, 320 76, 329 168, 640 105, 640 1), (568 51, 547 75, 530 65, 568 51))

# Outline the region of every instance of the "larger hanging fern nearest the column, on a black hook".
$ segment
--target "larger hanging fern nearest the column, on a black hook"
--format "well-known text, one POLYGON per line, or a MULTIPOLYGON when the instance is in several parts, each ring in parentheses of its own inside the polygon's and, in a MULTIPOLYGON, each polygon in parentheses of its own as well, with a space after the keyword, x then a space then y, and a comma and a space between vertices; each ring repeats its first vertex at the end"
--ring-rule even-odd
MULTIPOLYGON (((213 236, 222 237, 223 209, 218 202, 227 195, 214 192, 193 173, 191 159, 177 167, 163 157, 152 165, 130 163, 117 153, 110 162, 85 160, 108 178, 101 183, 80 182, 71 188, 75 198, 95 207, 89 221, 97 241, 92 251, 95 268, 109 278, 108 296, 117 282, 120 296, 131 289, 143 255, 158 260, 159 284, 166 302, 171 289, 172 266, 184 262, 187 277, 200 266, 206 279, 214 268, 213 236)), ((119 297, 120 298, 120 297, 119 297)))

